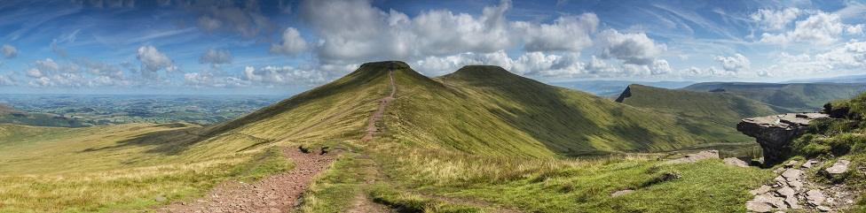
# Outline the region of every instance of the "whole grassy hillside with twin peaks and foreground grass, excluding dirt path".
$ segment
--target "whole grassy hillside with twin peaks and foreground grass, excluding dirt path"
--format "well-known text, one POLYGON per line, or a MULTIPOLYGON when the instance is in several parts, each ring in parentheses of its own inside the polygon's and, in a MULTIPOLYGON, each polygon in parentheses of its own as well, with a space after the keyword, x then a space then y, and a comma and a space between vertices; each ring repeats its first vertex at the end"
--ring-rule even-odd
POLYGON ((660 169, 689 168, 657 168, 658 162, 648 159, 586 163, 562 159, 563 155, 668 150, 730 139, 713 128, 664 111, 547 86, 500 67, 467 66, 430 79, 405 63, 370 63, 339 80, 216 126, 2 125, 0 212, 128 211, 163 204, 154 201, 158 196, 191 200, 227 179, 290 169, 291 164, 273 150, 298 145, 353 150, 343 154, 305 195, 302 210, 309 212, 343 212, 363 194, 379 202, 410 202, 405 206, 442 211, 487 204, 529 211, 658 211, 651 209, 651 203, 657 202, 653 198, 670 192, 674 193, 662 201, 676 203, 683 196, 716 201, 691 193, 705 187, 706 181, 731 183, 708 191, 726 194, 712 206, 741 202, 745 198, 740 195, 764 173, 726 169, 713 162, 694 166, 697 171, 681 171, 688 177, 683 178, 684 185, 648 187, 640 183, 657 179, 660 169), (373 141, 360 141, 378 100, 390 94, 389 73, 396 80, 397 99, 377 124, 382 133, 373 141), (581 169, 586 165, 592 166, 581 169), (258 169, 263 166, 268 169, 258 169), (736 175, 722 177, 716 171, 736 175), (436 175, 417 176, 425 173, 436 175), (605 177, 629 178, 614 182, 605 177), (382 186, 371 188, 369 178, 382 179, 382 186), (430 182, 446 180, 453 185, 430 182), (570 184, 574 181, 595 185, 570 184), (432 188, 406 189, 424 187, 432 188), (607 209, 605 203, 618 200, 609 200, 606 194, 624 187, 648 190, 628 200, 637 203, 634 206, 607 209), (490 190, 517 190, 523 195, 491 197, 495 194, 490 190), (415 193, 421 197, 411 195, 415 193), (530 193, 542 196, 530 198, 530 193), (461 200, 460 196, 476 202, 440 199, 461 200), (515 207, 515 203, 525 206, 515 207))

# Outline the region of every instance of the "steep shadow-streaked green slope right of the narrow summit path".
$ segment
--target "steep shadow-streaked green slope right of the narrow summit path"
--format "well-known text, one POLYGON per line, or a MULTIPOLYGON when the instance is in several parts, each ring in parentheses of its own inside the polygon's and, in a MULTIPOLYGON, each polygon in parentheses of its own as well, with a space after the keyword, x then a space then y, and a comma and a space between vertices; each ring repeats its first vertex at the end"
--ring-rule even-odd
POLYGON ((614 103, 472 65, 429 80, 399 72, 386 126, 400 141, 487 155, 586 155, 655 151, 728 141, 689 119, 614 103))

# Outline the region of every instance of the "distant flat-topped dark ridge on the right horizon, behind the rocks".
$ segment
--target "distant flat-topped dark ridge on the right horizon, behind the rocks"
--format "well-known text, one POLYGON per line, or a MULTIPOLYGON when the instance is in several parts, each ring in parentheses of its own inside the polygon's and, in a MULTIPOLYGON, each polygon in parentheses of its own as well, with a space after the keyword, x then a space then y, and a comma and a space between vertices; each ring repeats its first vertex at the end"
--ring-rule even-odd
POLYGON ((683 89, 740 95, 791 111, 815 111, 820 110, 825 103, 866 91, 866 84, 708 82, 683 89))

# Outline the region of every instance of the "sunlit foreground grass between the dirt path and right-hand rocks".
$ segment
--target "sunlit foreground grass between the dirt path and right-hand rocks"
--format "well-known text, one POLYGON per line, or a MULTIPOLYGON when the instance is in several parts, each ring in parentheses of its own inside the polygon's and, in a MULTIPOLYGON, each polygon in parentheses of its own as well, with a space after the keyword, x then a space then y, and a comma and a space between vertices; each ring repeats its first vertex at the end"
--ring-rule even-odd
MULTIPOLYGON (((751 199, 748 190, 775 176, 720 160, 666 165, 650 156, 515 159, 429 150, 382 155, 378 159, 387 162, 384 168, 394 187, 413 189, 403 194, 489 202, 528 212, 742 212, 751 199), (669 175, 681 178, 663 178, 669 175), (610 197, 623 189, 635 192, 610 197)), ((393 198, 395 193, 385 194, 401 200, 393 198)), ((402 205, 419 205, 411 195, 399 196, 408 197, 402 205)))

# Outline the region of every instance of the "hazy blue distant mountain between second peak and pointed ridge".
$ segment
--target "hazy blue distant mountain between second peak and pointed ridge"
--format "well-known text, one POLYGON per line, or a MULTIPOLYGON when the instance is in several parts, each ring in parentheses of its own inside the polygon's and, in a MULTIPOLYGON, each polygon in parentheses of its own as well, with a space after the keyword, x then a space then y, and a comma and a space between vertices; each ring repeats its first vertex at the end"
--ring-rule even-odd
POLYGON ((623 88, 632 84, 647 85, 652 87, 663 88, 681 88, 692 84, 693 81, 629 81, 629 80, 577 80, 551 82, 550 84, 559 87, 568 87, 584 91, 593 95, 610 96, 619 95, 623 88))

